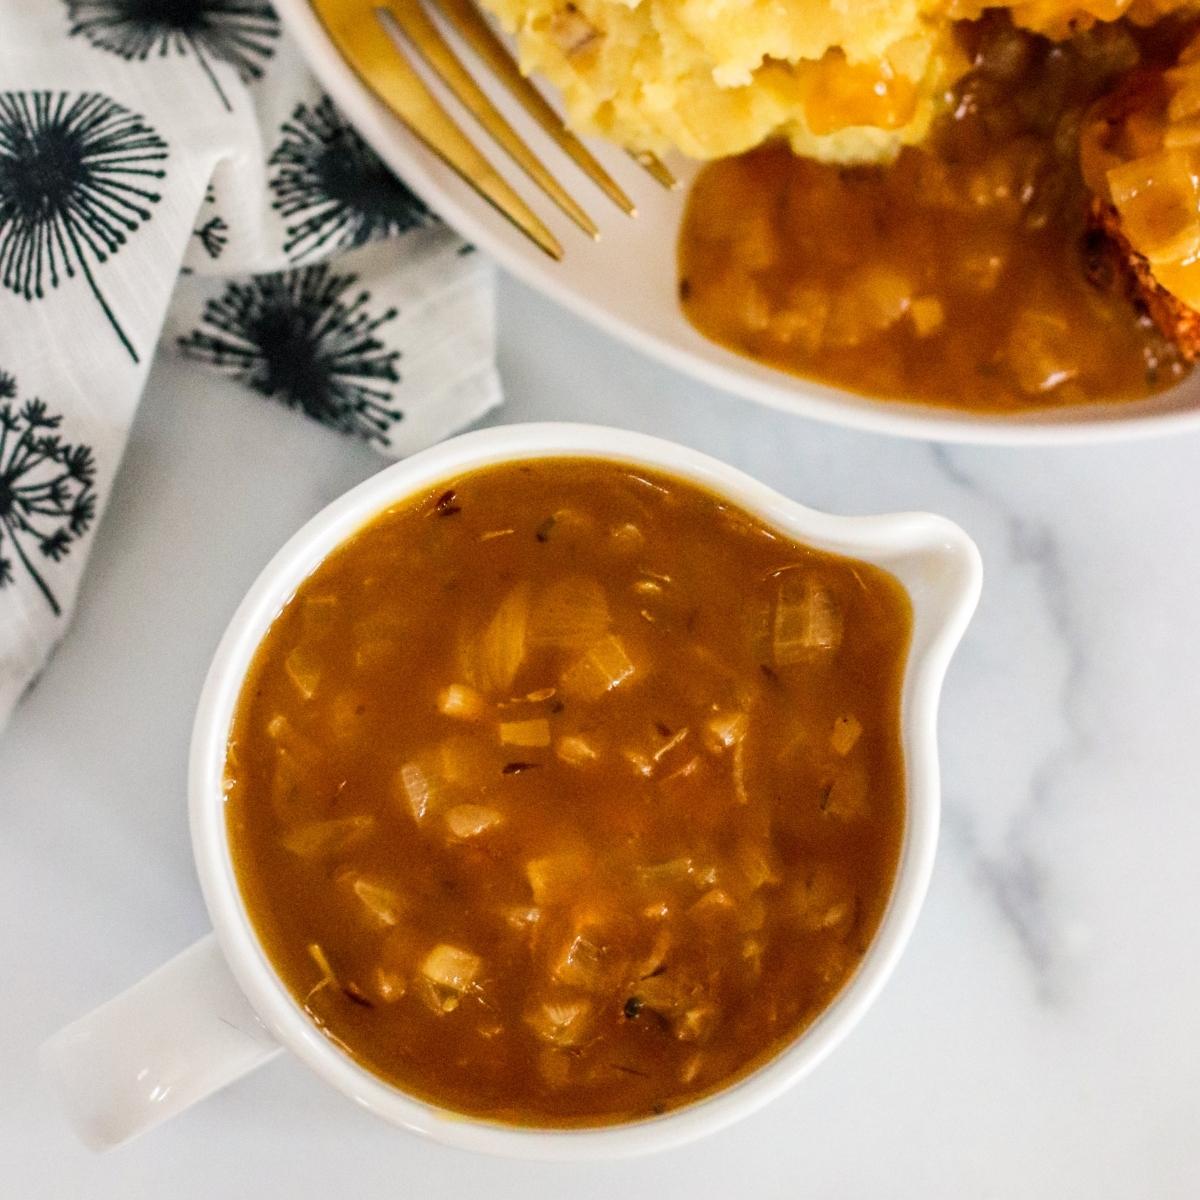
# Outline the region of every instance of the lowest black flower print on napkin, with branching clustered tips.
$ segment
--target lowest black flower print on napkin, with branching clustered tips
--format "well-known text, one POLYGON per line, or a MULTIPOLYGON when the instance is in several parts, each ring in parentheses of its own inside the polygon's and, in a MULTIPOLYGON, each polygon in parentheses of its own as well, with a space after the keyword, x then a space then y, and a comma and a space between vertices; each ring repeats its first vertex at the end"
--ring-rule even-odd
POLYGON ((61 416, 16 396, 17 382, 0 371, 0 589, 16 582, 13 556, 59 616, 36 560, 60 562, 96 518, 96 463, 89 446, 59 436, 61 416))

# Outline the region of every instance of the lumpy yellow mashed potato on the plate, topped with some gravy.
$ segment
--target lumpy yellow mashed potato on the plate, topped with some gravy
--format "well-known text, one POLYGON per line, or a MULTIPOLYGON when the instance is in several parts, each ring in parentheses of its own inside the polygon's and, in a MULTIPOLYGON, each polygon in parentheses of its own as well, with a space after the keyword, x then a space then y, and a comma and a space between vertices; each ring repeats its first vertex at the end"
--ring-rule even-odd
MULTIPOLYGON (((636 150, 694 158, 770 137, 824 161, 919 142, 966 70, 955 17, 976 0, 485 0, 522 68, 557 85, 572 124, 636 150)), ((1196 0, 1136 0, 1146 17, 1196 0)), ((1129 0, 1027 0, 1027 28, 1110 19, 1129 0)), ((1136 16, 1136 13, 1134 13, 1136 16)))

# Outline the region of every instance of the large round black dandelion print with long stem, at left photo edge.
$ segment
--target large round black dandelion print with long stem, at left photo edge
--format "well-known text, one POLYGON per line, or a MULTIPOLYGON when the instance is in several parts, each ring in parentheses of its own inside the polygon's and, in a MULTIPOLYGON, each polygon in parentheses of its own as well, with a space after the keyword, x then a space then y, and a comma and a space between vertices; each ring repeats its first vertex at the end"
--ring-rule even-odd
POLYGON ((166 157, 167 143, 106 96, 0 92, 0 284, 41 300, 82 275, 137 362, 95 266, 150 220, 166 157))

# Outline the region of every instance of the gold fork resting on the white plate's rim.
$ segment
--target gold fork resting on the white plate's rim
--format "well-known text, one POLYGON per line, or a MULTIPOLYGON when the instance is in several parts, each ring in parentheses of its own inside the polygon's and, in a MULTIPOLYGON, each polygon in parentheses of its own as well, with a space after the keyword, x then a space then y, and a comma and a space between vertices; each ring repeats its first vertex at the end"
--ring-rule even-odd
MULTIPOLYGON (((635 216, 632 200, 563 125, 541 92, 521 74, 515 59, 473 0, 433 2, 553 142, 614 204, 635 216)), ((492 139, 589 238, 600 235, 595 222, 474 80, 430 17, 424 0, 312 0, 312 7, 338 53, 367 88, 446 166, 551 258, 563 257, 562 244, 442 107, 404 54, 397 34, 416 49, 492 139)), ((671 172, 654 155, 634 154, 632 157, 664 187, 676 186, 671 172)))

